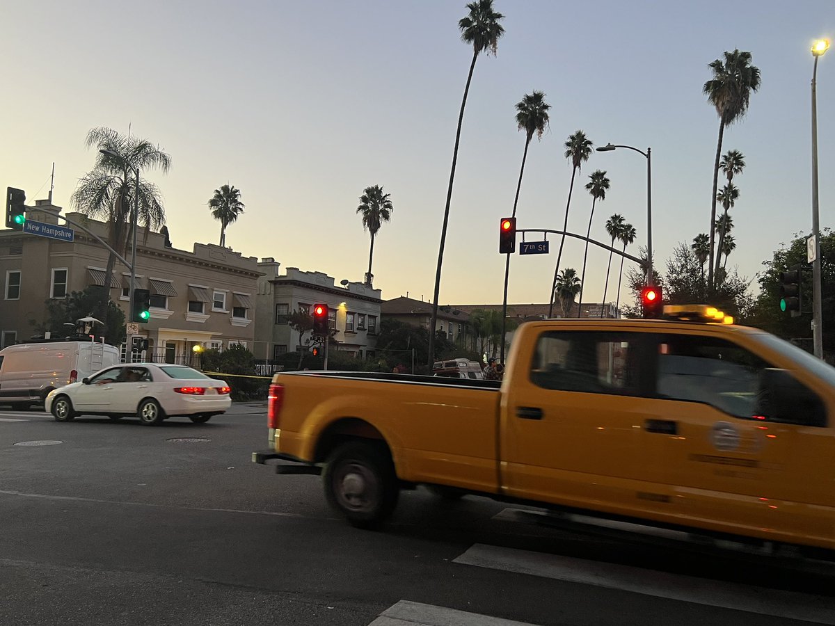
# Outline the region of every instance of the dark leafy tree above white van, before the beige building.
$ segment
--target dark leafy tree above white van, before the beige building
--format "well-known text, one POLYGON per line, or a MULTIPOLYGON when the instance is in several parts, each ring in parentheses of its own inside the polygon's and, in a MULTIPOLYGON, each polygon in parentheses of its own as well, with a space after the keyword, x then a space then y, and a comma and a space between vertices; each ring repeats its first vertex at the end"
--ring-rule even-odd
MULTIPOLYGON (((47 318, 42 325, 36 325, 40 332, 49 331, 53 337, 78 336, 78 320, 90 316, 102 300, 104 288, 89 285, 83 291, 73 291, 65 298, 46 300, 47 318), (75 325, 75 326, 69 326, 75 325)), ((126 332, 124 328, 124 313, 113 300, 107 300, 107 315, 96 317, 104 322, 104 327, 96 324, 91 334, 104 336, 104 341, 112 346, 121 346, 126 332)))

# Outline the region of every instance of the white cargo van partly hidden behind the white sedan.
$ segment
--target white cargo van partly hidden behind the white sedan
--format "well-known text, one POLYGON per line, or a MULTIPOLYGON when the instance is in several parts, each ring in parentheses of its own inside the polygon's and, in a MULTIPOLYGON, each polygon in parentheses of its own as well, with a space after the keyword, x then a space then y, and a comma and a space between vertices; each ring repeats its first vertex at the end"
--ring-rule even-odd
POLYGON ((43 404, 49 391, 119 363, 119 349, 92 341, 41 341, 0 350, 0 404, 43 404))

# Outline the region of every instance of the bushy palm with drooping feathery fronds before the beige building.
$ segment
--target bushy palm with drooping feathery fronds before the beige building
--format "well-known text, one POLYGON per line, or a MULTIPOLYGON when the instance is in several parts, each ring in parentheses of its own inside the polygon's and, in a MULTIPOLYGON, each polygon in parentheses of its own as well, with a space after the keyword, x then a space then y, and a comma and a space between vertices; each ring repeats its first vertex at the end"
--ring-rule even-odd
MULTIPOLYGON (((139 179, 137 185, 135 173, 154 168, 167 172, 171 157, 147 139, 125 137, 104 126, 90 129, 85 143, 88 148, 95 147, 99 152, 94 169, 78 181, 70 204, 90 218, 104 218, 108 222, 110 246, 114 250, 124 250, 129 241, 125 222, 128 221, 133 200, 138 196, 137 221, 144 225, 147 239, 148 230, 159 229, 165 223, 162 194, 155 184, 147 180, 139 179)), ((109 298, 115 264, 116 256, 111 252, 104 274, 103 305, 109 298)))

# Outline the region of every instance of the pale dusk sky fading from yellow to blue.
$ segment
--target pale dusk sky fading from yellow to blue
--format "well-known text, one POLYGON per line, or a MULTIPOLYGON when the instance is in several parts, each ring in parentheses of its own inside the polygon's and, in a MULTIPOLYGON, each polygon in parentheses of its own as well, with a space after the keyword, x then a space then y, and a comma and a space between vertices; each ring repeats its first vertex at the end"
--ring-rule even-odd
MULTIPOLYGON (((472 48, 460 41, 465 3, 93 2, 3 0, 0 38, 0 186, 70 208, 92 168, 87 131, 108 126, 150 139, 172 157, 146 172, 164 194, 171 239, 216 243, 206 206, 222 184, 241 189, 245 213, 226 243, 283 267, 362 280, 369 236, 356 215, 362 189, 383 185, 394 213, 374 249, 385 299, 433 294, 455 125, 472 48)), ((441 303, 500 302, 498 220, 514 200, 524 134, 514 105, 544 91, 550 129, 534 139, 519 197, 519 228, 561 228, 571 169, 566 137, 651 147, 656 264, 707 232, 718 119, 701 94, 707 64, 750 51, 762 88, 726 130, 745 173, 729 265, 754 279, 762 260, 811 230, 810 81, 814 38, 835 34, 835 3, 495 0, 504 13, 498 56, 480 55, 453 190, 441 303)), ((822 226, 835 225, 835 51, 817 80, 822 226)), ((584 165, 569 230, 584 232, 595 169, 611 181, 592 236, 608 239, 613 213, 645 245, 645 159, 594 153, 584 165)), ((547 301, 552 254, 514 256, 509 301, 547 301)), ((534 238, 536 239, 536 238, 534 238)), ((583 245, 566 242, 578 274, 583 245)), ((590 250, 587 294, 599 301, 608 254, 590 250)), ((756 280, 752 290, 757 292, 756 280)), ((609 300, 612 299, 610 291, 609 300)))

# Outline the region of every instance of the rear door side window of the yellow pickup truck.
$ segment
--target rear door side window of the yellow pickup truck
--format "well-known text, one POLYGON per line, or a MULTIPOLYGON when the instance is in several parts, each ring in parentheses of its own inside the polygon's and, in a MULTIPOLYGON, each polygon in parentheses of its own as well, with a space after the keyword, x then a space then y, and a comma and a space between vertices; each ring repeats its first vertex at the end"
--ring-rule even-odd
POLYGON ((559 391, 637 396, 640 335, 549 331, 539 336, 530 380, 559 391))

